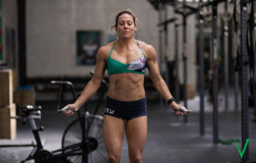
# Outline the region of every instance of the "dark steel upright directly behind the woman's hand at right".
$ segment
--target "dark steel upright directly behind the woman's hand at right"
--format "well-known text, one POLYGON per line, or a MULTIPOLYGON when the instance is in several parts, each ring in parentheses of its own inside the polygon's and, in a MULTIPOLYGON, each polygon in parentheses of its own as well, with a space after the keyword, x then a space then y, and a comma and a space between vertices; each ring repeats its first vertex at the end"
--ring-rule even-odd
MULTIPOLYGON (((184 86, 183 86, 183 98, 184 98, 184 106, 188 107, 188 91, 187 91, 187 15, 185 14, 185 3, 186 0, 183 0, 183 80, 184 80, 184 86)), ((188 115, 184 115, 184 122, 188 122, 188 115)))

